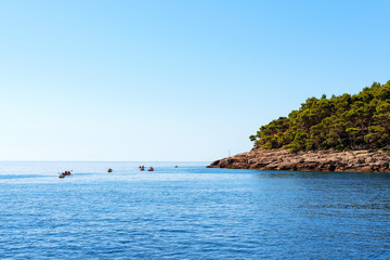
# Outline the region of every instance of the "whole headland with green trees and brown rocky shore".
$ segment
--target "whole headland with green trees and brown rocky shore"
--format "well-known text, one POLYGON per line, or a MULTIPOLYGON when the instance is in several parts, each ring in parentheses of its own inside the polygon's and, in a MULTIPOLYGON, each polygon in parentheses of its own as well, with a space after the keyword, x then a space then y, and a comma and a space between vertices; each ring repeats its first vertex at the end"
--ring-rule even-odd
POLYGON ((249 139, 252 151, 210 167, 390 172, 390 80, 354 95, 310 98, 249 139))

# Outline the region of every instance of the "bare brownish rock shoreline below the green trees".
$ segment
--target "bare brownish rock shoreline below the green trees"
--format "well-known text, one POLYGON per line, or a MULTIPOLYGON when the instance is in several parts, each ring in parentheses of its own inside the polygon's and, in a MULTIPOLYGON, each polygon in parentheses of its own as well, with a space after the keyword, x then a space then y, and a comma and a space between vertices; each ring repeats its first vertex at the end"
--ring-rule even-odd
POLYGON ((256 148, 247 153, 216 160, 208 168, 390 172, 390 154, 381 151, 310 151, 289 153, 287 150, 256 148))

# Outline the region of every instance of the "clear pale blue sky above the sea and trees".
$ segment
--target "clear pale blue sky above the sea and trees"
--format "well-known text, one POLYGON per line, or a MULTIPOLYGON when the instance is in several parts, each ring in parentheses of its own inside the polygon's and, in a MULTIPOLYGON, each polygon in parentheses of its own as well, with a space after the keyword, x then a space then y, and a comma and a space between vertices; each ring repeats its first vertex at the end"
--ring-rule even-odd
POLYGON ((0 160, 211 161, 390 79, 390 1, 0 0, 0 160))

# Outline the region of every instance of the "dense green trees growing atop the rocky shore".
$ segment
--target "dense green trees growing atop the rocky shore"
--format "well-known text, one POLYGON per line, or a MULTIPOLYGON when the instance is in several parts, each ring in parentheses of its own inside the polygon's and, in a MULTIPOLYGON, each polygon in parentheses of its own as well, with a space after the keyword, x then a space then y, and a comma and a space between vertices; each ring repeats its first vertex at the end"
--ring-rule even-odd
POLYGON ((249 139, 255 147, 311 150, 390 150, 390 80, 359 94, 310 98, 288 117, 262 126, 249 139))

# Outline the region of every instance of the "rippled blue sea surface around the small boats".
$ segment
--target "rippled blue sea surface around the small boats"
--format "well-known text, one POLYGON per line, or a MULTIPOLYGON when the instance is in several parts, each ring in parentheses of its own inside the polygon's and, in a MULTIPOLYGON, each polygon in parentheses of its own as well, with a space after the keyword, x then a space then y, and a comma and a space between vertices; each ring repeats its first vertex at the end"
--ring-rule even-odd
POLYGON ((0 259, 390 259, 390 174, 206 165, 0 162, 0 259))

